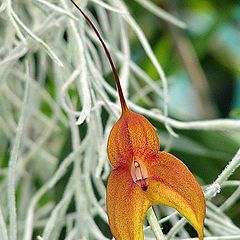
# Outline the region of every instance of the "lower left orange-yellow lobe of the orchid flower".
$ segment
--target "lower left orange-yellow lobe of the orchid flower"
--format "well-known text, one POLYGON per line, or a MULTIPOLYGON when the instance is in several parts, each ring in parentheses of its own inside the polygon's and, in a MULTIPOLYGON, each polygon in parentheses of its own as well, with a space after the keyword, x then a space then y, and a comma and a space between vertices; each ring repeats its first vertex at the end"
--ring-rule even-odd
POLYGON ((109 225, 117 240, 142 240, 143 220, 150 201, 133 182, 129 170, 114 169, 108 179, 107 211, 109 225))

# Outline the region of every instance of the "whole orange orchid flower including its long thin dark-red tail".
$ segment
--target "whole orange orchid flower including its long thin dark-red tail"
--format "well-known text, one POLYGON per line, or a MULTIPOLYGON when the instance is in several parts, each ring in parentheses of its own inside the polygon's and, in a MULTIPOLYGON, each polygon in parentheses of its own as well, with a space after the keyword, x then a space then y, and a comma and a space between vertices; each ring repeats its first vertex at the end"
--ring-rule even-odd
POLYGON ((122 115, 108 139, 113 170, 107 185, 107 213, 113 236, 117 240, 142 240, 146 211, 154 204, 164 204, 188 219, 202 240, 206 207, 201 187, 181 160, 159 151, 159 139, 151 123, 128 109, 103 39, 86 14, 71 1, 104 47, 121 102, 122 115))

